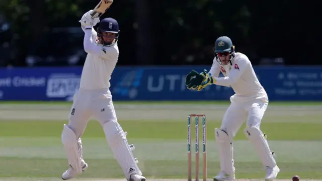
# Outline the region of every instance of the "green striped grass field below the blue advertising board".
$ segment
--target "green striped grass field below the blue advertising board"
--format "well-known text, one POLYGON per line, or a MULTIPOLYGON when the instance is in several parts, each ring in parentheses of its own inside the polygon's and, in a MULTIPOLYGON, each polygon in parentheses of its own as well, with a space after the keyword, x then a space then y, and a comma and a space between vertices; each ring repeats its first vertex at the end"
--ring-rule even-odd
MULTIPOLYGON (((220 126, 228 103, 116 102, 115 108, 147 178, 187 177, 186 118, 188 113, 206 113, 207 171, 211 179, 220 171, 213 130, 220 126)), ((320 105, 321 102, 269 104, 262 130, 268 134, 271 149, 277 155, 281 169, 279 179, 290 180, 292 175, 322 179, 320 105)), ((69 106, 70 103, 52 102, 7 102, 0 105, 0 181, 59 179, 67 168, 60 134, 62 125, 67 123, 69 106)), ((243 128, 234 139, 236 178, 263 179, 266 171, 253 145, 245 138, 243 128)), ((79 179, 125 180, 107 146, 101 126, 95 120, 90 121, 83 136, 83 148, 89 168, 78 176, 79 179)), ((201 165, 202 161, 202 170, 201 165)))

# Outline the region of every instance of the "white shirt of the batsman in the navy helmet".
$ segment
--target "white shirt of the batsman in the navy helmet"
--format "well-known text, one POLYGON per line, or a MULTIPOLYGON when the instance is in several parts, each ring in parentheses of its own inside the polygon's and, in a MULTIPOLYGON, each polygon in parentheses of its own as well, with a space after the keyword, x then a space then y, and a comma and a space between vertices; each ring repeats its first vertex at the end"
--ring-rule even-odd
POLYGON ((98 90, 110 88, 111 75, 116 66, 119 48, 98 44, 97 32, 92 28, 84 30, 84 50, 88 53, 83 67, 79 88, 98 90))

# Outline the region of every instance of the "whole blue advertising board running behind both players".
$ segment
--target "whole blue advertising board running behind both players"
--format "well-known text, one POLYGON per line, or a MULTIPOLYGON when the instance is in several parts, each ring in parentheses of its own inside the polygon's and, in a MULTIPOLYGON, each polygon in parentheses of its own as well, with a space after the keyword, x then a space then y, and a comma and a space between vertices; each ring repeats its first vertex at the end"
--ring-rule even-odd
MULTIPOLYGON (((198 67, 118 67, 111 79, 114 100, 228 100, 230 87, 188 90, 185 76, 198 67)), ((270 100, 322 100, 322 67, 255 67, 270 100)), ((0 100, 71 100, 81 67, 2 68, 0 100)))

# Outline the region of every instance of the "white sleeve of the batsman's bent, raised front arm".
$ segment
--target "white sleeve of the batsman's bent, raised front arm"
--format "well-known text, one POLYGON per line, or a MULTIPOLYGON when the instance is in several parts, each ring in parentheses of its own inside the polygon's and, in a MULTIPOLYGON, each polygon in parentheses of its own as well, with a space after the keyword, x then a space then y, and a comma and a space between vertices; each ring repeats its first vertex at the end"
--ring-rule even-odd
POLYGON ((108 59, 109 57, 115 57, 117 55, 117 50, 114 47, 102 47, 98 46, 92 37, 92 30, 86 29, 84 36, 84 50, 87 53, 95 54, 101 58, 108 59))

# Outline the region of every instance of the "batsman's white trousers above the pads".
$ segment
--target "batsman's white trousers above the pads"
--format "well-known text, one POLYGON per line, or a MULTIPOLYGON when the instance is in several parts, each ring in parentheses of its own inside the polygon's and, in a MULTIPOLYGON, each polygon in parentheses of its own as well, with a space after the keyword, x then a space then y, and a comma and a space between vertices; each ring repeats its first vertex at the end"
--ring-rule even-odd
POLYGON ((68 127, 80 138, 93 117, 103 126, 109 121, 117 122, 112 96, 109 89, 79 89, 74 97, 69 113, 68 127))

